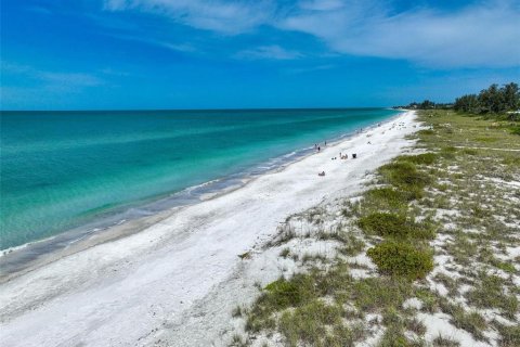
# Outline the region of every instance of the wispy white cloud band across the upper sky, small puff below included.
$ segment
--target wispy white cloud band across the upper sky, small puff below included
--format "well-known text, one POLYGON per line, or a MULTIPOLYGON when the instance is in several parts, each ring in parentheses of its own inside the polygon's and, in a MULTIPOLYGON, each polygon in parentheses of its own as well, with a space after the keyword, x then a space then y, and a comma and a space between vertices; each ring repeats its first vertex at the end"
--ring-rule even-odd
MULTIPOLYGON (((456 10, 396 9, 382 0, 105 0, 107 11, 138 11, 218 35, 253 35, 262 26, 303 33, 330 52, 406 60, 429 67, 520 66, 520 3, 486 1, 456 10)), ((280 43, 280 42, 278 42, 280 43)), ((280 44, 237 53, 294 59, 280 44)))

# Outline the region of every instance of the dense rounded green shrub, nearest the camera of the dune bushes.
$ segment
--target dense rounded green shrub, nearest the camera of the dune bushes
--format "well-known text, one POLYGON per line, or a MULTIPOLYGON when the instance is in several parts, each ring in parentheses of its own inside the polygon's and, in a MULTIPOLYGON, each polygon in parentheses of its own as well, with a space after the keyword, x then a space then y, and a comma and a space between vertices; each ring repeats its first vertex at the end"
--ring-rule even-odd
POLYGON ((404 242, 385 241, 369 248, 366 254, 381 273, 408 280, 424 279, 433 269, 433 257, 430 252, 416 249, 404 242))

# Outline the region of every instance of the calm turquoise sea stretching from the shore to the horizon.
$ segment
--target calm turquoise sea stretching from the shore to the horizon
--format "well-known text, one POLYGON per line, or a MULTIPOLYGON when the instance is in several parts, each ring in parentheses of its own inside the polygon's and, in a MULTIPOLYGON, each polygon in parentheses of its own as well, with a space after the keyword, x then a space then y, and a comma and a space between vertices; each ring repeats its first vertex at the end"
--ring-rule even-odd
MULTIPOLYGON (((2 112, 0 249, 384 120, 358 110, 2 112)), ((271 160, 271 162, 270 162, 271 160)))

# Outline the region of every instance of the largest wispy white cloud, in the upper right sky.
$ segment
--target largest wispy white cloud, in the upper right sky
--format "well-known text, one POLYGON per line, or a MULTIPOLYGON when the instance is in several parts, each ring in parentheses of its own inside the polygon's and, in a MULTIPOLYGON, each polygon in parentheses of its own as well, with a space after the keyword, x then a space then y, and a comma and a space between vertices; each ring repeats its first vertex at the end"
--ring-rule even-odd
POLYGON ((316 36, 333 50, 349 54, 437 67, 520 65, 520 11, 508 2, 396 15, 354 3, 334 11, 303 11, 280 26, 316 36))

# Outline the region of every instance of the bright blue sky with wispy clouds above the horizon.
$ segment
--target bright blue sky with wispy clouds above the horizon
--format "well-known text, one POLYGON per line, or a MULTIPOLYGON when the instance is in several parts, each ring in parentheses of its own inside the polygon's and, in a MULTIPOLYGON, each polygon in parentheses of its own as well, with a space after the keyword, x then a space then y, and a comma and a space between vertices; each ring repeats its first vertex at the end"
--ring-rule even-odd
POLYGON ((520 81, 520 2, 2 0, 2 110, 388 106, 520 81))

